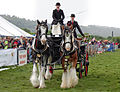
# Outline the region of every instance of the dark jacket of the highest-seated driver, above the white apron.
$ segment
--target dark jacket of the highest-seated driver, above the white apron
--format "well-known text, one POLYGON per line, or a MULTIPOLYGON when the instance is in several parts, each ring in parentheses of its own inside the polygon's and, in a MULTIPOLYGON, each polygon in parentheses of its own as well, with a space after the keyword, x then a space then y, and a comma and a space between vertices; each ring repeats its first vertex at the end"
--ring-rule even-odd
POLYGON ((57 9, 53 10, 52 17, 53 17, 52 24, 56 25, 59 22, 60 24, 63 25, 63 20, 65 18, 63 10, 61 9, 59 11, 57 11, 57 9))

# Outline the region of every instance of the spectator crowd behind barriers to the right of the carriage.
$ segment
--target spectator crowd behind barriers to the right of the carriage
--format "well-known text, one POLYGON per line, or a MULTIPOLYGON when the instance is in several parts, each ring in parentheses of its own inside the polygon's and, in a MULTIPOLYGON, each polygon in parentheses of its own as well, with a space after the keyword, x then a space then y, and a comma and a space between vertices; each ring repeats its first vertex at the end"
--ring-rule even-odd
POLYGON ((103 53, 106 51, 115 51, 118 48, 120 48, 120 43, 118 42, 112 42, 109 40, 95 40, 92 39, 89 42, 89 54, 91 56, 95 55, 95 54, 99 54, 99 53, 103 53))

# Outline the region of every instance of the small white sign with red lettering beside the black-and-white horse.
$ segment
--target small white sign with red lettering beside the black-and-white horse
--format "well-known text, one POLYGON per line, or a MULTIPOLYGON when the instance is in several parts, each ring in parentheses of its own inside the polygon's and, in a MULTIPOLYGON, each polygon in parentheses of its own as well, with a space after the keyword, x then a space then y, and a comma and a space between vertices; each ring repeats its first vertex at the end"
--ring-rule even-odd
POLYGON ((27 64, 27 50, 18 50, 19 65, 27 64))

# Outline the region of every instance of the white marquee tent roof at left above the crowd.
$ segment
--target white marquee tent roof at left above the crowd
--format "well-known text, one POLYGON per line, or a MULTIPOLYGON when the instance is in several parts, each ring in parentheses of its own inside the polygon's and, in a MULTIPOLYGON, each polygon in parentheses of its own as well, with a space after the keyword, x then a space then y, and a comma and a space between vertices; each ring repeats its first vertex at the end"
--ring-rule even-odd
POLYGON ((1 16, 0 16, 0 35, 33 37, 32 35, 28 34, 27 32, 8 22, 1 16))

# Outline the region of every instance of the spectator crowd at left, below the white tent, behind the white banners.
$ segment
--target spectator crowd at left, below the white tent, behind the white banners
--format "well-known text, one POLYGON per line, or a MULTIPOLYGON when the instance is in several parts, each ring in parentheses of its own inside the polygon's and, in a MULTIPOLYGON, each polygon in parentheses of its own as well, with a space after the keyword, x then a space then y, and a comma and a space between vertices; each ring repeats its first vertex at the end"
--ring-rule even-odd
POLYGON ((0 37, 0 50, 3 49, 25 49, 27 50, 27 61, 32 61, 33 38, 26 37, 0 37))

